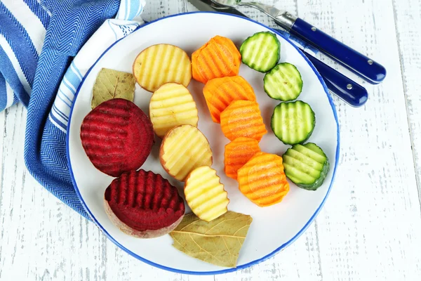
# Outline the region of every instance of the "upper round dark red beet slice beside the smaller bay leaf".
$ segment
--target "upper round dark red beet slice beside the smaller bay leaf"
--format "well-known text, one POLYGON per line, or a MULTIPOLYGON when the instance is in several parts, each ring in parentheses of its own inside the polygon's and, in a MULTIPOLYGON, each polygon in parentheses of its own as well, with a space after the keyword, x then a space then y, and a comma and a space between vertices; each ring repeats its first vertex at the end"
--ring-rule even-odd
POLYGON ((154 145, 154 130, 137 105, 113 98, 83 119, 81 141, 93 166, 116 177, 142 166, 154 145))

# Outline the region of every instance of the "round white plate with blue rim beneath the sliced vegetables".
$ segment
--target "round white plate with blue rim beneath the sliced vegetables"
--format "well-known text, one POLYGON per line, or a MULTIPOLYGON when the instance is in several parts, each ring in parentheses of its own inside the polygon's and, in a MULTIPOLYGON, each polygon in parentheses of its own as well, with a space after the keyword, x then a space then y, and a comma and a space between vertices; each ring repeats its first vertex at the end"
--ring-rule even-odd
MULTIPOLYGON (((292 243, 305 231, 319 213, 330 191, 338 162, 339 131, 335 107, 327 93, 325 84, 309 60, 290 41, 278 36, 281 41, 281 61, 293 63, 302 74, 303 89, 299 100, 312 106, 316 114, 316 128, 309 141, 319 145, 330 160, 330 172, 323 185, 317 191, 302 190, 290 183, 290 192, 279 204, 261 208, 250 202, 238 190, 236 181, 225 176, 223 171, 224 146, 228 143, 222 134, 219 124, 210 119, 201 89, 203 84, 192 79, 189 90, 199 108, 199 129, 203 131, 213 150, 213 168, 218 171, 229 196, 228 208, 232 211, 250 214, 253 223, 240 251, 236 268, 222 268, 199 261, 172 246, 172 239, 164 235, 155 239, 141 240, 121 233, 105 214, 102 200, 105 188, 112 177, 102 174, 89 161, 79 138, 83 118, 91 111, 91 96, 95 78, 101 67, 126 72, 132 71, 136 55, 152 44, 167 43, 183 48, 189 55, 205 44, 211 37, 221 35, 229 37, 239 46, 241 42, 255 32, 270 30, 258 22, 220 13, 186 13, 162 18, 140 27, 128 37, 117 41, 91 67, 84 77, 74 100, 68 127, 67 155, 76 192, 83 202, 86 211, 95 223, 121 249, 136 258, 159 268, 189 274, 216 274, 246 268, 274 255, 292 243)), ((273 32, 273 30, 271 30, 273 32)), ((260 147, 265 152, 282 155, 288 146, 279 141, 270 128, 270 117, 278 100, 269 98, 263 91, 264 74, 241 65, 240 73, 255 90, 260 110, 267 126, 267 135, 262 138, 260 147)), ((149 98, 152 93, 136 85, 135 104, 149 114, 149 98)), ((159 164, 158 151, 160 141, 156 144, 142 169, 154 171, 167 178, 179 188, 182 194, 182 183, 175 181, 159 164)), ((190 210, 187 208, 186 212, 190 210)))

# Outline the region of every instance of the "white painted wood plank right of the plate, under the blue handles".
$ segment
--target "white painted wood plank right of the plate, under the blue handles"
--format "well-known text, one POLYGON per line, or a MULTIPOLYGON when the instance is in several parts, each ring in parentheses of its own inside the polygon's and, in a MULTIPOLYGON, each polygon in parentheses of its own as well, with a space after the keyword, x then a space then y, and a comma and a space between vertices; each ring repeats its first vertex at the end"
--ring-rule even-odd
POLYGON ((392 1, 298 4, 305 20, 388 70, 379 86, 363 83, 369 91, 364 107, 352 108, 334 97, 342 157, 333 192, 316 220, 323 280, 420 280, 415 250, 421 249, 415 235, 421 231, 420 203, 392 1))

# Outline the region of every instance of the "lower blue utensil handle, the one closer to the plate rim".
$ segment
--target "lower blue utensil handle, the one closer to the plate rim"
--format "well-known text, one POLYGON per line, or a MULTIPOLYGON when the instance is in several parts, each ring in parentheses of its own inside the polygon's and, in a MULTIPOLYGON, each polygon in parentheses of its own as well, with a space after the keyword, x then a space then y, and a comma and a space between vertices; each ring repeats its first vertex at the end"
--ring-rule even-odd
POLYGON ((332 67, 322 63, 309 53, 303 53, 313 63, 317 71, 319 71, 326 86, 328 86, 328 89, 335 93, 336 96, 342 98, 342 100, 345 100, 346 103, 354 107, 360 107, 366 103, 368 100, 368 93, 363 86, 334 70, 332 67))

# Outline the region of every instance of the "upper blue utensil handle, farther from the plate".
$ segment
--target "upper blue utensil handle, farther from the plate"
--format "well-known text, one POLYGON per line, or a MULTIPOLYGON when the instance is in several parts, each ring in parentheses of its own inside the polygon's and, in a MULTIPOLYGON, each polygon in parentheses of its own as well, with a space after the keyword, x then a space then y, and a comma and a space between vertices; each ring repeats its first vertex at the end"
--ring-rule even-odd
POLYGON ((386 77, 385 67, 330 37, 301 18, 295 20, 290 32, 312 44, 319 51, 326 53, 326 55, 329 55, 349 70, 359 74, 371 84, 378 84, 386 77))

